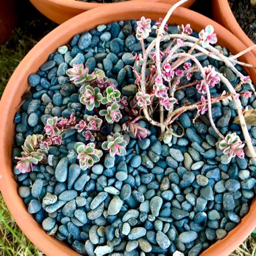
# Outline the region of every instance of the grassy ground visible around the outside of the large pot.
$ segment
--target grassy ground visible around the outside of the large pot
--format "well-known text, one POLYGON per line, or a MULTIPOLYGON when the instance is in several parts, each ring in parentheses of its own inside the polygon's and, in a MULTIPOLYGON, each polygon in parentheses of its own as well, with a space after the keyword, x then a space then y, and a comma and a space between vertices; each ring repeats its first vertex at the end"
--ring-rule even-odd
MULTIPOLYGON (((11 38, 0 46, 0 98, 3 90, 28 51, 40 38, 56 27, 32 7, 28 0, 17 1, 17 24, 11 38)), ((230 256, 256 256, 256 238, 247 240, 230 256)), ((26 238, 15 224, 0 194, 0 255, 40 256, 44 255, 26 238)))

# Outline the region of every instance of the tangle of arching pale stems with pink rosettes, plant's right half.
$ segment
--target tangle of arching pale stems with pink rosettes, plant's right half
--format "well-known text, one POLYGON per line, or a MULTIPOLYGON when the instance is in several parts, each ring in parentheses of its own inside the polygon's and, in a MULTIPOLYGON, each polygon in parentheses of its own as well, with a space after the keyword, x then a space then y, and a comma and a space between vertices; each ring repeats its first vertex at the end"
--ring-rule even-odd
MULTIPOLYGON (((161 138, 164 137, 164 133, 175 135, 172 131, 172 123, 185 111, 197 108, 197 117, 207 113, 207 118, 214 131, 219 135, 222 141, 226 141, 226 137, 217 129, 212 119, 212 103, 220 101, 220 98, 216 99, 212 97, 210 92, 211 87, 222 83, 228 88, 230 92, 229 96, 232 97, 232 100, 234 100, 234 103, 236 104, 236 110, 240 119, 245 142, 247 143, 253 160, 256 162, 256 153, 251 143, 251 138, 243 116, 243 108, 241 101, 239 100, 240 94, 236 93, 232 84, 230 84, 228 79, 226 79, 222 73, 216 71, 212 65, 202 67, 197 59, 199 56, 207 55, 218 61, 223 61, 227 67, 240 77, 241 83, 249 84, 251 90, 255 93, 251 78, 249 76, 244 76, 234 66, 234 63, 239 63, 240 65, 253 67, 252 65, 236 61, 236 58, 247 53, 247 51, 253 49, 255 46, 251 46, 249 49, 242 53, 238 53, 238 55, 235 55, 234 57, 226 57, 211 45, 215 44, 218 40, 212 25, 208 25, 205 29, 201 30, 201 32, 199 32, 199 38, 193 36, 193 30, 189 24, 179 26, 180 34, 167 34, 165 28, 170 15, 174 9, 186 1, 187 0, 181 0, 174 4, 168 11, 164 20, 158 22, 154 26, 157 36, 148 45, 147 49, 144 49, 143 39, 148 37, 148 32, 152 29, 150 27, 150 19, 142 17, 141 20, 137 22, 136 36, 141 42, 143 63, 141 64, 141 73, 138 73, 135 67, 134 71, 136 77, 140 78, 140 94, 154 95, 151 104, 147 104, 145 100, 142 101, 143 98, 139 98, 139 106, 141 106, 143 110, 143 117, 152 125, 160 127, 161 138), (169 44, 164 51, 160 50, 160 43, 162 41, 168 41, 169 44), (194 50, 196 50, 195 53, 194 50), (150 69, 150 75, 146 75, 147 69, 150 69), (183 88, 183 86, 181 86, 181 79, 187 79, 189 81, 195 72, 201 74, 201 79, 197 81, 197 83, 191 83, 190 86, 195 86, 197 92, 202 94, 201 102, 195 102, 189 106, 181 106, 180 108, 175 109, 174 103, 177 102, 177 100, 174 98, 174 93, 179 90, 179 88, 183 88), (157 118, 156 115, 154 115, 156 111, 159 111, 160 118, 157 118)), ((137 61, 136 65, 138 64, 139 62, 137 61)), ((238 137, 238 135, 236 136, 238 137)), ((224 155, 226 155, 226 151, 224 151, 224 155)), ((241 151, 240 156, 242 155, 241 151)), ((234 156, 236 156, 236 154, 230 153, 228 159, 234 156)))

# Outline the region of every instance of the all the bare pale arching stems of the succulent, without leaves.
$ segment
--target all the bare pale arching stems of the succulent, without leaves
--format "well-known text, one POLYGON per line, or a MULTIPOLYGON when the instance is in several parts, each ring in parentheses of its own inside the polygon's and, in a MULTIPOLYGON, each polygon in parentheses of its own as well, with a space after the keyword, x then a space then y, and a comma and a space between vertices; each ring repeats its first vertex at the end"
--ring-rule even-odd
MULTIPOLYGON (((141 67, 141 91, 142 92, 146 92, 146 66, 147 66, 147 61, 148 61, 148 55, 150 54, 150 52, 152 51, 152 49, 154 48, 154 46, 156 45, 156 69, 157 69, 157 73, 158 75, 162 75, 162 71, 161 71, 161 63, 160 63, 160 42, 162 40, 166 40, 166 39, 172 39, 172 38, 181 38, 183 40, 191 40, 192 42, 183 42, 183 44, 181 44, 181 46, 191 46, 191 52, 193 51, 193 49, 197 49, 199 51, 201 51, 201 53, 197 53, 195 55, 189 55, 188 53, 185 54, 185 53, 179 53, 177 55, 173 55, 174 54, 174 51, 176 51, 177 49, 179 49, 181 46, 174 46, 172 49, 171 49, 171 53, 168 55, 168 57, 166 57, 166 59, 163 61, 162 65, 164 65, 164 63, 166 63, 167 61, 170 61, 170 59, 174 59, 174 57, 181 57, 181 56, 184 56, 184 60, 179 60, 179 63, 177 63, 177 65, 175 65, 175 67, 181 65, 182 63, 184 63, 185 61, 187 61, 188 59, 193 59, 193 61, 196 63, 196 65, 199 67, 200 71, 201 71, 201 74, 203 76, 203 79, 205 79, 205 72, 203 70, 203 67, 201 67, 201 64, 199 63, 199 61, 195 58, 195 57, 199 57, 201 55, 207 55, 213 59, 216 59, 218 61, 224 61, 224 63, 226 64, 227 67, 230 67, 230 69, 232 69, 232 71, 234 71, 234 73, 236 73, 236 75, 238 75, 238 77, 243 77, 243 74, 240 73, 232 63, 238 63, 240 65, 245 65, 247 67, 253 67, 253 65, 249 65, 249 64, 246 64, 246 63, 243 63, 241 61, 236 61, 234 60, 234 58, 236 57, 240 57, 241 55, 247 53, 248 51, 251 51, 251 49, 253 49, 255 46, 251 46, 249 47, 249 49, 246 49, 244 51, 242 51, 241 53, 239 53, 238 55, 234 55, 234 57, 225 57, 224 55, 220 54, 218 52, 218 50, 216 50, 213 46, 207 46, 206 49, 204 49, 203 47, 201 47, 199 44, 201 44, 201 42, 199 42, 199 40, 197 38, 194 38, 193 36, 188 36, 188 35, 185 35, 185 34, 170 34, 168 36, 160 36, 162 34, 162 32, 164 31, 164 24, 166 24, 166 22, 168 21, 168 19, 170 18, 170 15, 172 14, 172 11, 178 7, 179 5, 181 5, 182 3, 185 3, 187 0, 182 0, 182 1, 179 1, 179 3, 173 5, 170 10, 168 11, 166 17, 164 18, 159 30, 158 30, 158 36, 155 40, 153 40, 150 45, 148 46, 148 49, 146 49, 146 51, 143 51, 143 65, 141 67), (187 58, 186 58, 187 57, 187 58)), ((141 46, 143 48, 143 46, 141 46)), ((230 87, 232 88, 232 86, 230 85, 230 83, 228 82, 228 80, 221 74, 218 73, 218 75, 220 76, 222 82, 224 82, 224 84, 226 84, 226 86, 228 87, 228 89, 230 90, 230 87), (224 81, 224 79, 226 79, 224 81), (228 84, 228 85, 227 85, 228 84)), ((253 90, 253 92, 256 94, 255 92, 255 89, 253 88, 252 84, 250 84, 251 86, 251 89, 253 90)), ((207 106, 208 106, 208 113, 209 113, 209 120, 210 120, 210 123, 214 129, 214 131, 216 131, 216 133, 224 138, 224 136, 220 133, 220 131, 218 131, 218 129, 216 128, 215 124, 214 124, 214 121, 212 119, 212 103, 211 102, 211 95, 210 95, 210 90, 208 88, 208 86, 206 86, 207 88, 207 106)), ((234 88, 232 88, 233 91, 230 90, 230 92, 233 92, 234 94, 236 94, 234 88)), ((178 89, 179 90, 179 89, 178 89)), ((234 96, 233 96, 234 98, 234 96)), ((241 107, 241 102, 240 100, 235 100, 235 103, 236 103, 236 107, 237 106, 240 106, 240 109, 239 107, 238 108, 238 116, 239 118, 242 120, 241 121, 241 127, 243 129, 243 133, 245 135, 245 141, 247 142, 247 145, 248 145, 248 148, 249 148, 249 151, 251 152, 252 156, 253 156, 253 159, 256 160, 256 153, 255 151, 253 150, 253 146, 251 144, 251 140, 250 140, 250 137, 249 137, 249 132, 247 130, 247 127, 246 127, 246 123, 245 123, 245 119, 243 117, 243 110, 242 110, 242 107, 241 107), (240 104, 240 105, 239 105, 240 104), (241 117, 242 115, 242 117, 241 117)), ((203 106, 203 104, 201 105, 203 106)), ((198 108, 198 104, 193 104, 191 106, 183 106, 177 110, 174 110, 172 113, 168 113, 168 117, 166 119, 166 121, 164 121, 164 113, 163 111, 161 111, 161 108, 162 106, 160 106, 160 123, 154 121, 149 113, 148 113, 148 108, 143 108, 143 113, 145 115, 145 118, 150 122, 152 123, 152 125, 156 125, 158 127, 161 127, 161 132, 163 132, 165 129, 166 129, 166 126, 168 124, 170 124, 170 121, 172 121, 172 117, 174 117, 175 115, 179 114, 179 113, 183 113, 184 111, 186 110, 189 110, 189 109, 195 109, 195 108, 198 108)), ((163 110, 163 108, 162 108, 163 110)), ((180 115, 180 114, 179 114, 180 115)), ((176 117, 177 118, 177 117, 176 117)))

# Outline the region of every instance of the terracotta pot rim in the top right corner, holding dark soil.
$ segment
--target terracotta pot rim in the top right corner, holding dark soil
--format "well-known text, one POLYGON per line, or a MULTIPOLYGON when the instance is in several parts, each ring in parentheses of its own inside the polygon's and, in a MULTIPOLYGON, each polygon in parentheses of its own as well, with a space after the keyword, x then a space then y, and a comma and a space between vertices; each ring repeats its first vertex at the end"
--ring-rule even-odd
MULTIPOLYGON (((236 18, 234 18, 234 14, 230 9, 228 0, 213 0, 212 13, 216 22, 230 30, 247 47, 254 44, 253 41, 247 36, 247 34, 245 34, 245 32, 242 30, 238 22, 236 22, 236 18)), ((252 53, 256 56, 256 49, 253 49, 252 53)))

